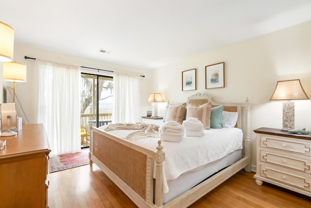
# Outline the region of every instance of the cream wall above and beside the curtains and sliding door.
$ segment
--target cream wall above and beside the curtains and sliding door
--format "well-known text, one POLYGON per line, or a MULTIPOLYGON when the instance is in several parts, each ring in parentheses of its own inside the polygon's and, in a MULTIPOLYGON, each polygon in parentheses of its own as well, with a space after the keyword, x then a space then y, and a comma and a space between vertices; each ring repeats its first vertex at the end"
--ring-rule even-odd
MULTIPOLYGON (((141 77, 141 115, 146 114, 146 110, 149 108, 147 99, 150 93, 148 89, 150 86, 149 83, 152 80, 150 76, 151 71, 146 71, 142 69, 137 69, 133 67, 123 66, 114 63, 103 62, 99 60, 93 60, 84 57, 71 56, 68 54, 57 53, 54 51, 48 51, 43 49, 38 49, 30 46, 14 44, 14 60, 21 64, 27 65, 27 82, 17 82, 16 83, 16 94, 19 98, 19 101, 22 103, 25 114, 30 123, 34 123, 34 107, 33 103, 37 100, 37 95, 34 92, 34 69, 35 69, 35 60, 33 59, 24 59, 24 56, 34 57, 44 60, 49 60, 56 63, 63 63, 75 66, 85 66, 92 67, 96 69, 104 69, 109 71, 114 71, 124 74, 134 74, 134 75, 145 75, 141 77)), ((109 55, 108 55, 109 56, 109 55)), ((2 64, 0 64, 0 71, 2 72, 2 64)), ((95 71, 96 72, 96 71, 95 71)), ((6 95, 6 86, 13 88, 13 82, 2 80, 2 73, 0 73, 0 84, 3 85, 3 90, 0 91, 0 103, 12 102, 12 98, 7 100, 6 95)), ((151 107, 150 107, 151 108, 151 107)))

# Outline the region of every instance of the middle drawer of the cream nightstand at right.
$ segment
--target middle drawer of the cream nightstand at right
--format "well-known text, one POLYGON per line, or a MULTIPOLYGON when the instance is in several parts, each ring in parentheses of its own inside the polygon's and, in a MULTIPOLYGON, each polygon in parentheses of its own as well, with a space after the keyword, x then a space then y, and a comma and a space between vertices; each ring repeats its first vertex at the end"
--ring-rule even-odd
POLYGON ((307 159, 260 151, 260 161, 311 174, 311 161, 307 159))

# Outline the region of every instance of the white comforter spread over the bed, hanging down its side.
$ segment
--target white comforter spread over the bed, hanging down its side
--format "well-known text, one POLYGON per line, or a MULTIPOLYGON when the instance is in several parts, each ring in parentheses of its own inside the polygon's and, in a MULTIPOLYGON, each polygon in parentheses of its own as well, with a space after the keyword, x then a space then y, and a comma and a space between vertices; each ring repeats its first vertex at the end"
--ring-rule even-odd
MULTIPOLYGON (((125 137, 135 130, 109 131, 119 138, 125 137)), ((147 137, 131 140, 134 144, 156 151, 159 137, 147 137)), ((237 128, 205 130, 203 137, 185 136, 181 142, 162 141, 165 161, 163 163, 164 178, 169 181, 183 173, 198 170, 209 162, 225 157, 229 153, 242 149, 243 133, 237 128)), ((163 192, 168 191, 166 180, 163 192)))

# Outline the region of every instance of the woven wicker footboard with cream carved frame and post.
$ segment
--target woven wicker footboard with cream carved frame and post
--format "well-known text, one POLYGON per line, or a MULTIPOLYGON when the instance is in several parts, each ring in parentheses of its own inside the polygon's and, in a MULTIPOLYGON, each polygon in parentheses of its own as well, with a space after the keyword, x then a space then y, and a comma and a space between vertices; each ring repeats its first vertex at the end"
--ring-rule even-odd
MULTIPOLYGON (((157 167, 156 187, 162 190, 162 165, 165 154, 162 147, 150 151, 90 127, 90 160, 138 205, 153 207, 154 162, 157 167)), ((90 163, 92 164, 92 163, 90 163)), ((157 207, 162 206, 162 191, 155 193, 157 207)))

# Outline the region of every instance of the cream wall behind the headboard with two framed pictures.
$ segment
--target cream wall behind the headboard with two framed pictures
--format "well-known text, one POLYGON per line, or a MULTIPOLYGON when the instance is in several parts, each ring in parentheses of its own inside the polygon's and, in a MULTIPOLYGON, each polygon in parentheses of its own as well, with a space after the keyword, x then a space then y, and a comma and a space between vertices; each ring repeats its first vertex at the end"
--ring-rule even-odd
MULTIPOLYGON (((269 101, 278 80, 300 79, 311 97, 311 21, 258 38, 183 59, 153 70, 154 88, 165 100, 186 102, 196 92, 216 102, 251 103, 252 165, 255 133, 260 127, 282 128, 282 102, 269 101), (205 89, 205 66, 225 62, 225 88, 205 89), (197 90, 182 91, 182 71, 197 69, 197 90)), ((311 101, 295 102, 295 128, 311 130, 311 101)))

